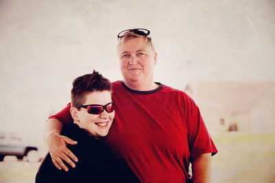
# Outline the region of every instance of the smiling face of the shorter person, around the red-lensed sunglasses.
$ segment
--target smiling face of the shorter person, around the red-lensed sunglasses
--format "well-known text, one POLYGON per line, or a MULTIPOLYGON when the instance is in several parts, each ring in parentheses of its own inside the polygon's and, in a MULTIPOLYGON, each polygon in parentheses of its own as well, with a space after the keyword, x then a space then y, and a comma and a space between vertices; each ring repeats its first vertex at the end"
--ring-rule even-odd
MULTIPOLYGON (((94 91, 85 95, 85 103, 83 103, 83 106, 91 104, 99 104, 104 106, 110 102, 110 91, 94 91)), ((74 118, 74 123, 87 130, 91 136, 96 138, 100 136, 107 136, 111 124, 113 123, 113 118, 115 117, 114 111, 108 113, 104 110, 101 114, 89 114, 87 109, 80 108, 80 110, 77 110, 75 107, 71 108, 71 114, 74 118)))

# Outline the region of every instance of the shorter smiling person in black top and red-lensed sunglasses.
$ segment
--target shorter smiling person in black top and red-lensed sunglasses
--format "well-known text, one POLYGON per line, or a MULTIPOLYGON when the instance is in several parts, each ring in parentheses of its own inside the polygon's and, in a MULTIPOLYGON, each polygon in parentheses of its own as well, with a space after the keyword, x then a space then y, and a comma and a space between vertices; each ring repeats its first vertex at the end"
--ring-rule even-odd
POLYGON ((111 82, 96 71, 76 78, 70 112, 74 123, 65 125, 62 134, 78 142, 67 145, 79 157, 77 166, 69 171, 58 170, 47 154, 36 173, 36 183, 140 182, 126 162, 102 143, 115 117, 111 82))

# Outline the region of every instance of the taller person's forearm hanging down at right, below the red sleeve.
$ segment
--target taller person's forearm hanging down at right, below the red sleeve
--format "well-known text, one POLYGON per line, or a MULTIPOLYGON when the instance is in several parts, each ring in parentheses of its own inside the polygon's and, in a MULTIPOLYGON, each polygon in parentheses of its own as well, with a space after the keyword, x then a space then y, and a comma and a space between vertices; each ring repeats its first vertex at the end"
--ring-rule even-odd
POLYGON ((201 154, 192 163, 192 178, 194 183, 209 183, 211 174, 211 154, 201 154))

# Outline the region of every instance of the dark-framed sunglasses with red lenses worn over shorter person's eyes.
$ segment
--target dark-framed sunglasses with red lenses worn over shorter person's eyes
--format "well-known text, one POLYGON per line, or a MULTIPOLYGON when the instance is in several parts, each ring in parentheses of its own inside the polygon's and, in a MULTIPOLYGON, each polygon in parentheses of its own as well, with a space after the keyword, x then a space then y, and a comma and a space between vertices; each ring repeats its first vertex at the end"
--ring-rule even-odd
POLYGON ((76 106, 76 108, 85 108, 89 114, 101 114, 104 110, 106 110, 108 113, 111 113, 115 109, 113 102, 107 103, 105 106, 91 104, 85 106, 76 106))

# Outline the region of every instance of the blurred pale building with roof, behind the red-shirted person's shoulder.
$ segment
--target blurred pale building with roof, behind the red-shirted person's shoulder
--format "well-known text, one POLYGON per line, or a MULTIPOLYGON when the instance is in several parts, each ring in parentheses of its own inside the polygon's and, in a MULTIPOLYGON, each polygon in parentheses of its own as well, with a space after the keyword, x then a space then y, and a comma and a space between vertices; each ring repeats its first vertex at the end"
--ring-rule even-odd
POLYGON ((190 82, 184 91, 211 134, 275 132, 275 82, 190 82))

